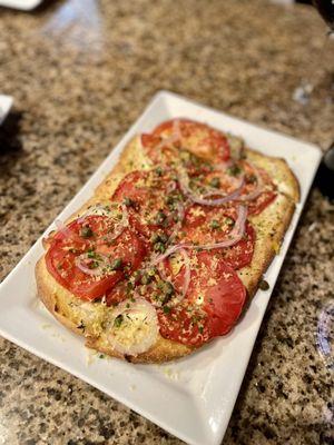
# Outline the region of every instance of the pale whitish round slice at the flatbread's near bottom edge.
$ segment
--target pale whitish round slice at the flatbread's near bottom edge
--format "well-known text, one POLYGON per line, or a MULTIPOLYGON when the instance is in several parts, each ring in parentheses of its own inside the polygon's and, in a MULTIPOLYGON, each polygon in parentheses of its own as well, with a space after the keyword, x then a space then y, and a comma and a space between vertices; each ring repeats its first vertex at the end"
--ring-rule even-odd
POLYGON ((108 342, 121 355, 136 356, 146 353, 157 340, 158 317, 151 304, 144 298, 125 300, 114 310, 108 342), (121 316, 121 323, 116 318, 121 316), (130 335, 131 334, 131 335, 130 335))

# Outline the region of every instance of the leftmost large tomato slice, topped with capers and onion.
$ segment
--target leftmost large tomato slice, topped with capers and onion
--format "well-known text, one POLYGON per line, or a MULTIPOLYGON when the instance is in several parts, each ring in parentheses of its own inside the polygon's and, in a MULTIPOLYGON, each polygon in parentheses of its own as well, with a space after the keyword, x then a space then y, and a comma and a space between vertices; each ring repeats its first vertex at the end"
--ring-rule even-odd
POLYGON ((46 255, 49 273, 77 297, 95 300, 136 270, 146 255, 144 241, 129 228, 112 238, 115 221, 106 216, 88 216, 58 231, 46 255), (91 275, 78 267, 85 257, 91 275), (104 259, 104 267, 99 264, 104 259), (81 259, 80 259, 81 261, 81 259), (79 261, 79 263, 80 263, 79 261), (107 263, 106 263, 107 261, 107 263))

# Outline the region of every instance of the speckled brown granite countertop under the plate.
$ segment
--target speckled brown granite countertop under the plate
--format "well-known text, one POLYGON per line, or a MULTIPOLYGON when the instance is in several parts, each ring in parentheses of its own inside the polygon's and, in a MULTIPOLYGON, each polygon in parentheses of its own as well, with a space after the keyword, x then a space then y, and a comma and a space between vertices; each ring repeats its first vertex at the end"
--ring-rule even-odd
MULTIPOLYGON (((85 184, 158 89, 325 149, 334 42, 306 6, 68 0, 0 9, 0 278, 85 184)), ((333 443, 334 208, 314 187, 224 444, 333 443), (333 344, 332 344, 333 348, 333 344)), ((0 444, 180 441, 1 339, 0 444)))

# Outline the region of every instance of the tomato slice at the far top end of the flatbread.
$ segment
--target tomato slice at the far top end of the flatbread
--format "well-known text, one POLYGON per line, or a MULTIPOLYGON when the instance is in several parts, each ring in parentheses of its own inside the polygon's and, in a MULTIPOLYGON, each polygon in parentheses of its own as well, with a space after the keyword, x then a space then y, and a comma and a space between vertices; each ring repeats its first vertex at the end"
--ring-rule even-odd
POLYGON ((220 162, 229 159, 229 145, 225 135, 205 123, 173 119, 156 127, 153 135, 166 140, 176 135, 178 139, 174 145, 207 160, 220 162))

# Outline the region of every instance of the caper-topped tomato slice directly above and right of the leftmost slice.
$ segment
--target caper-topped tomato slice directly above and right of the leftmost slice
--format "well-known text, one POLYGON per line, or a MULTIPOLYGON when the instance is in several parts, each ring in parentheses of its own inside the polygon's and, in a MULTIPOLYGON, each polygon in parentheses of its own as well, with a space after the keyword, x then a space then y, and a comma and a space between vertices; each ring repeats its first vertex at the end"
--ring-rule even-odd
POLYGON ((183 209, 183 197, 175 175, 160 167, 130 172, 119 184, 111 199, 128 202, 130 220, 138 233, 147 238, 154 234, 168 238, 183 209))

